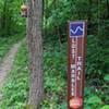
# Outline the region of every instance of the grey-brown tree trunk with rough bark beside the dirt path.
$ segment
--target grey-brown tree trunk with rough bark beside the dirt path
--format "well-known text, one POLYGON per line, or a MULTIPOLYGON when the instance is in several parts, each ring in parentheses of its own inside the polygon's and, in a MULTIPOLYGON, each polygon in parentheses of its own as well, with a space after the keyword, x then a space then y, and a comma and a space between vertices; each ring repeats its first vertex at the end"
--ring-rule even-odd
POLYGON ((29 107, 39 109, 44 96, 43 84, 43 0, 28 0, 27 44, 29 52, 29 107))

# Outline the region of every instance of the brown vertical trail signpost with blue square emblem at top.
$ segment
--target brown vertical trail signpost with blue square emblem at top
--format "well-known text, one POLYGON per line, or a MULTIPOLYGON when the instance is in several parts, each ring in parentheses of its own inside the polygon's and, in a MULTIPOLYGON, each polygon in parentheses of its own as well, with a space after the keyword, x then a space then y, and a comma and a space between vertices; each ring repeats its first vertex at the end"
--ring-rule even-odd
POLYGON ((68 109, 83 109, 86 22, 70 22, 68 40, 68 109))

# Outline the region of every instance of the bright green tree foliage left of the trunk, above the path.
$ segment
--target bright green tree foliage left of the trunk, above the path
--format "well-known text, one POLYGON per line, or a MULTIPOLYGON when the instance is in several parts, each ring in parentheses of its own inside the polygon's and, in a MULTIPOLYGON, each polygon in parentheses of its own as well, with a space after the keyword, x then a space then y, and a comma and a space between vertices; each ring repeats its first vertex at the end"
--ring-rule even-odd
POLYGON ((0 37, 16 34, 25 28, 25 20, 20 15, 20 0, 0 0, 0 37))

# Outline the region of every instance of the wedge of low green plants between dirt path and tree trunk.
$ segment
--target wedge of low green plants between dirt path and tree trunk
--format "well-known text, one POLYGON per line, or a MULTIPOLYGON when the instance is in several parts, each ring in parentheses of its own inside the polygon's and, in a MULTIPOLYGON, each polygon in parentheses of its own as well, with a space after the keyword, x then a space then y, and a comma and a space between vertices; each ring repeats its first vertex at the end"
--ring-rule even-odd
POLYGON ((10 72, 2 89, 2 109, 23 109, 28 98, 28 71, 26 47, 20 49, 13 70, 10 72))

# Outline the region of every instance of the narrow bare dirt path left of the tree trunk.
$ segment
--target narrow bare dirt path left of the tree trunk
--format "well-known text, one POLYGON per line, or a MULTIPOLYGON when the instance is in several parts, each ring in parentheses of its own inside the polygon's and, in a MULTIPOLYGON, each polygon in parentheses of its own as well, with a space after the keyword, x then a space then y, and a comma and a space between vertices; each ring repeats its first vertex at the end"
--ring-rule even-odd
MULTIPOLYGON (((4 84, 7 74, 11 71, 13 66, 13 61, 21 44, 22 41, 13 45, 13 47, 9 50, 9 53, 4 57, 3 61, 0 63, 0 89, 4 84)), ((0 92, 0 100, 1 99, 2 99, 2 94, 0 92)))

